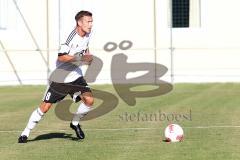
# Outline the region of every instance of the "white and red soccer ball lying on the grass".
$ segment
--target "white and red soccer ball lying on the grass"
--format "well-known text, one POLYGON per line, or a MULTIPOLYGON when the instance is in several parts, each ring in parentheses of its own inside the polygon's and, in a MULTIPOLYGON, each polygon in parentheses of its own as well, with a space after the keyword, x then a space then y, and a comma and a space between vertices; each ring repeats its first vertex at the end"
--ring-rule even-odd
POLYGON ((165 129, 167 142, 180 142, 183 140, 183 129, 178 124, 170 124, 165 129))

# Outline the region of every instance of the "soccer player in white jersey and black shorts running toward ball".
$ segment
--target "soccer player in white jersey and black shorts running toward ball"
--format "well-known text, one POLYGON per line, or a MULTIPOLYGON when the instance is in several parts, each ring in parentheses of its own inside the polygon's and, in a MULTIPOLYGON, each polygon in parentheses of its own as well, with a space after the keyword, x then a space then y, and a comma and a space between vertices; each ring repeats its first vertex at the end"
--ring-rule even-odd
POLYGON ((69 34, 66 42, 61 45, 56 61, 56 69, 50 76, 50 83, 39 108, 34 110, 26 128, 18 138, 18 143, 26 143, 31 130, 51 108, 53 103, 64 99, 68 94, 75 102, 81 101, 74 114, 70 127, 79 139, 84 139, 79 120, 92 108, 94 98, 88 84, 83 78, 80 62, 90 64, 93 57, 89 52, 88 43, 92 29, 92 13, 80 11, 75 16, 76 27, 69 34))

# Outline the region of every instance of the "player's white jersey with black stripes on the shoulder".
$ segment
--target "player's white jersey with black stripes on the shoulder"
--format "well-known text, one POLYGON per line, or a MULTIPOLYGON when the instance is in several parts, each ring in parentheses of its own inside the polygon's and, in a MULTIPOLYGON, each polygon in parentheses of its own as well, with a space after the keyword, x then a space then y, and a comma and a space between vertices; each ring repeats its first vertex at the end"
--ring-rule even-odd
MULTIPOLYGON (((77 34, 76 29, 74 29, 69 34, 66 42, 61 45, 58 56, 66 54, 71 56, 75 54, 85 54, 88 49, 90 34, 91 33, 86 34, 84 37, 81 37, 77 34)), ((79 62, 60 62, 57 60, 56 69, 50 76, 50 81, 58 83, 69 83, 75 81, 77 78, 82 76, 83 73, 79 62)))

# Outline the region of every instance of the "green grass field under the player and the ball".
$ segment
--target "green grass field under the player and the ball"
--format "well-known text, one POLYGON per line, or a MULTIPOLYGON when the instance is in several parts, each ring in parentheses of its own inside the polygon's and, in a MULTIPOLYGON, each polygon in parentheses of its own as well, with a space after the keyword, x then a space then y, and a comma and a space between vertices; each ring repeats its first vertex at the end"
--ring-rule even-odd
MULTIPOLYGON (((117 96, 111 85, 93 88, 117 96)), ((29 142, 18 144, 44 91, 45 86, 0 87, 1 160, 240 159, 240 84, 176 84, 168 94, 138 98, 135 106, 119 98, 113 111, 82 122, 84 141, 74 139, 69 122, 58 119, 53 107, 32 131, 29 142), (149 118, 159 113, 162 117, 149 118), (183 127, 183 142, 163 142, 169 123, 183 127)))

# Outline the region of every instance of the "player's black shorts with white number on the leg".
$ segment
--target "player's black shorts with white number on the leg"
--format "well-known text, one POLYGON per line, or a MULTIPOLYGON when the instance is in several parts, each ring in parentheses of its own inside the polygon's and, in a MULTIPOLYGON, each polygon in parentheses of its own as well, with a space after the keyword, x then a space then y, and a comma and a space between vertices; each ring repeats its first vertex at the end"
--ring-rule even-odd
MULTIPOLYGON (((68 94, 73 97, 73 94, 76 92, 80 92, 80 94, 91 92, 91 89, 83 77, 79 77, 75 81, 69 83, 51 82, 45 92, 43 101, 46 103, 56 103, 63 100, 68 94)), ((80 100, 81 98, 78 96, 75 102, 80 100)))

